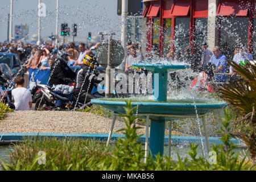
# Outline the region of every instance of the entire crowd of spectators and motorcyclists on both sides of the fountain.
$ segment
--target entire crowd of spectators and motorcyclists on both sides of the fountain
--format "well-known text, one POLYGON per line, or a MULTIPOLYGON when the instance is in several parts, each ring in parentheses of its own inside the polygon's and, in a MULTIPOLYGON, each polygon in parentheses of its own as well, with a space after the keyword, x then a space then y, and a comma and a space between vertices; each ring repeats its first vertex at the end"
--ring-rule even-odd
MULTIPOLYGON (((76 49, 75 43, 70 42, 68 46, 60 46, 58 50, 54 49, 51 44, 42 44, 41 46, 32 47, 31 44, 0 44, 0 52, 10 52, 16 53, 24 67, 28 69, 36 69, 40 70, 50 69, 51 78, 49 79, 49 86, 53 87, 55 85, 64 84, 67 85, 70 82, 75 81, 75 89, 74 93, 76 96, 79 94, 79 90, 88 90, 88 81, 82 86, 81 81, 84 80, 85 75, 88 74, 88 69, 93 68, 96 65, 96 62, 92 63, 94 60, 94 54, 96 52, 97 47, 100 43, 89 44, 80 43, 78 49, 76 49), (90 60, 89 62, 87 60, 90 60), (93 65, 93 66, 92 66, 93 65), (79 66, 81 67, 77 75, 71 71, 69 67, 79 66)), ((160 51, 157 45, 152 47, 151 59, 157 59, 160 57, 160 51)), ((213 92, 213 89, 210 87, 209 81, 214 80, 215 82, 226 82, 227 76, 230 77, 236 76, 236 71, 233 67, 228 67, 226 56, 221 53, 221 48, 215 46, 212 51, 208 49, 208 44, 201 44, 201 57, 199 59, 195 59, 195 56, 191 53, 190 47, 185 47, 184 55, 180 57, 181 60, 185 63, 188 63, 194 72, 197 72, 199 75, 192 79, 192 83, 188 89, 205 89, 209 92, 213 92)), ((125 72, 142 72, 141 68, 133 67, 133 63, 139 63, 143 61, 144 57, 141 51, 141 46, 138 43, 132 43, 129 41, 127 43, 127 55, 125 56, 125 72)), ((177 55, 174 50, 168 52, 165 56, 165 59, 169 60, 170 63, 172 61, 177 61, 177 55)), ((237 64, 246 64, 246 61, 250 61, 253 59, 253 56, 250 53, 246 52, 246 49, 242 46, 236 47, 234 51, 233 61, 237 64)), ((97 63, 98 64, 98 63, 97 63)), ((93 75, 90 72, 90 75, 93 75)), ((179 82, 179 78, 176 76, 176 73, 172 73, 172 80, 176 80, 179 82)), ((97 77, 94 77, 94 80, 97 77)), ((97 80, 97 79, 96 79, 97 80)), ((21 78, 15 81, 16 87, 22 87, 24 84, 21 78)), ((17 98, 24 94, 23 92, 27 92, 26 89, 16 89, 13 92, 13 100, 14 104, 18 108, 20 104, 17 105, 17 98)), ((85 94, 85 93, 83 93, 85 94)), ((87 93, 86 93, 87 95, 87 93)), ((89 94, 88 98, 93 98, 89 94)), ((30 107, 30 97, 27 96, 26 100, 28 100, 28 105, 26 109, 30 107), (29 98, 29 99, 28 99, 29 98)), ((23 102, 23 101, 19 101, 23 102)), ((57 101, 57 107, 63 107, 63 103, 61 101, 57 101)), ((23 110, 24 108, 19 108, 23 110)))

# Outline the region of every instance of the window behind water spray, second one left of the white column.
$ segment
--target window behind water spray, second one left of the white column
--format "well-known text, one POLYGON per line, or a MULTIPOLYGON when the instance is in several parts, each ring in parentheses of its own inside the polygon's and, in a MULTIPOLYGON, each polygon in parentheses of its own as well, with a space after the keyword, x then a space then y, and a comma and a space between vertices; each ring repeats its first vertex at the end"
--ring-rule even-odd
POLYGON ((174 46, 175 52, 184 54, 184 48, 189 46, 190 18, 175 18, 174 46))

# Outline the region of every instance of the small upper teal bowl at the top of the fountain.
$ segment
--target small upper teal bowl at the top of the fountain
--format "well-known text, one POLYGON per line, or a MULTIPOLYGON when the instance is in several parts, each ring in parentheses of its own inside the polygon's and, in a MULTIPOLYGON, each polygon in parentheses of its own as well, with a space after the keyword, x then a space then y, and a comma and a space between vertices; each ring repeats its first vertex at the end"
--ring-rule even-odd
POLYGON ((145 68, 151 72, 172 72, 178 69, 187 69, 189 65, 175 65, 175 64, 147 64, 147 63, 133 63, 134 67, 145 68))

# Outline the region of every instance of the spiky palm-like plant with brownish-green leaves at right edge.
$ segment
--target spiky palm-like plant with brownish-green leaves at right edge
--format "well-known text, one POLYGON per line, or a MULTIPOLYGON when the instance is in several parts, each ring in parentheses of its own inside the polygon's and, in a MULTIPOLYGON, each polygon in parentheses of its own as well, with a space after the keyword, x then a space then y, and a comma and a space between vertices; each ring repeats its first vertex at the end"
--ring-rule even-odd
POLYGON ((236 70, 239 81, 230 82, 220 87, 220 97, 228 104, 232 105, 234 113, 243 117, 236 122, 236 135, 245 142, 250 151, 250 158, 253 162, 256 160, 256 64, 247 61, 246 65, 229 62, 236 70))

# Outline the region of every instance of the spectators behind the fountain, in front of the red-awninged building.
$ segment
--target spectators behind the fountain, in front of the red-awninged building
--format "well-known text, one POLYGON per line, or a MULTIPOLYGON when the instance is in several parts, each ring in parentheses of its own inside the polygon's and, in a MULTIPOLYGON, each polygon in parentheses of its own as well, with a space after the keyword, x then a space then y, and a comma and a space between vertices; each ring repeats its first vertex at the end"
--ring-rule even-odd
MULTIPOLYGON (((215 46, 212 50, 208 49, 208 43, 201 44, 200 55, 198 53, 193 53, 191 47, 187 46, 184 52, 177 51, 173 49, 163 55, 163 59, 174 62, 184 62, 189 64, 193 72, 198 73, 196 78, 192 78, 191 88, 201 89, 204 87, 205 90, 213 92, 212 88, 209 88, 209 82, 216 82, 217 84, 224 84, 228 81, 228 77, 232 81, 237 80, 236 71, 234 68, 228 64, 227 57, 221 52, 221 47, 215 46)), ((136 44, 131 43, 127 46, 128 55, 126 57, 125 71, 138 72, 138 68, 134 68, 131 65, 135 62, 142 61, 143 57, 138 56, 141 53, 141 49, 138 48, 136 44)), ((160 50, 158 44, 153 44, 151 47, 151 59, 160 59, 160 50)), ((247 53, 246 47, 243 45, 237 46, 234 49, 233 61, 238 65, 246 64, 246 61, 253 60, 251 53, 247 53)), ((182 85, 182 81, 177 77, 176 72, 170 73, 172 81, 179 82, 182 85)), ((184 86, 184 84, 183 84, 184 86)))

